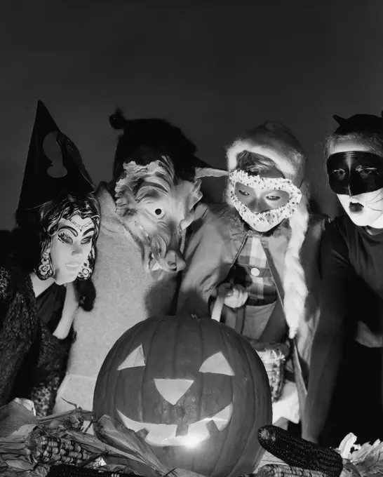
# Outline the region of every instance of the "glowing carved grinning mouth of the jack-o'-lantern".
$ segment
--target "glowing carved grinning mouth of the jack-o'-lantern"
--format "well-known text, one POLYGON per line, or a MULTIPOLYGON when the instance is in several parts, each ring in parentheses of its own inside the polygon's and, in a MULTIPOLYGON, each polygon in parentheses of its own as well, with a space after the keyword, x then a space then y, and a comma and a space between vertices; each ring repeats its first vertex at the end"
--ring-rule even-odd
POLYGON ((233 413, 233 405, 230 403, 226 408, 211 417, 205 417, 182 428, 182 435, 178 424, 153 424, 151 422, 138 422, 130 419, 117 409, 123 424, 132 431, 146 431, 145 441, 150 445, 184 445, 195 447, 210 437, 212 428, 223 431, 229 424, 233 413))

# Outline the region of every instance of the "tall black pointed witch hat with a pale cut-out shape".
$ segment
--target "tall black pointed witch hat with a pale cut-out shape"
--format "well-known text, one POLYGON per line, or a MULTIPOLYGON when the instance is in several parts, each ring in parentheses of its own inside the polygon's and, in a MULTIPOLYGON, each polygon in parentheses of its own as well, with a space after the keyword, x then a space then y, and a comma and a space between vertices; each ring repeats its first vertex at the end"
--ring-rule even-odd
POLYGON ((19 209, 42 206, 62 192, 94 192, 79 149, 63 134, 39 100, 25 166, 19 209))

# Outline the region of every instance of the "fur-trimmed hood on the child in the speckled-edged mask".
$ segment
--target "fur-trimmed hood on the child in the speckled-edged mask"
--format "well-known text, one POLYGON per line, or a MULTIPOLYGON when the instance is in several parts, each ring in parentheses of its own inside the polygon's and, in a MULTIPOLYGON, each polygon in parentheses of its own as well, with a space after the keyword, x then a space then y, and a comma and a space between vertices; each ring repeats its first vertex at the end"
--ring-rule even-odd
POLYGON ((305 157, 300 143, 283 124, 267 122, 238 137, 227 148, 229 173, 236 169, 242 152, 262 154, 271 161, 286 179, 301 187, 304 178, 305 157))

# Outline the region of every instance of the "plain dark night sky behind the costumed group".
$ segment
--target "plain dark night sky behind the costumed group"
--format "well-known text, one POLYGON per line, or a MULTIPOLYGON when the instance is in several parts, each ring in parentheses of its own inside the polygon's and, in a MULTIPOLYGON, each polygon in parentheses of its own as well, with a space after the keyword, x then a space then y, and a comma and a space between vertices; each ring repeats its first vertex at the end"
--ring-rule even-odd
POLYGON ((309 156, 314 198, 335 213, 321 147, 332 114, 383 109, 382 25, 382 0, 2 2, 1 227, 13 225, 39 98, 96 183, 111 177, 117 105, 175 123, 222 167, 238 133, 283 121, 309 156))

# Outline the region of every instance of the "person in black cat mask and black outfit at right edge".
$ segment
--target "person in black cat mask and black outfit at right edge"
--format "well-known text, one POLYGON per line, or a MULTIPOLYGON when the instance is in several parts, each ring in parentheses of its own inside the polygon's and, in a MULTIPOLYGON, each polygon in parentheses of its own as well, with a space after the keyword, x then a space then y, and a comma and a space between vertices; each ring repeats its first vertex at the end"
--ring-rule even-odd
POLYGON ((383 438, 383 119, 334 116, 325 159, 345 214, 321 246, 321 316, 311 355, 303 436, 339 445, 383 438))

